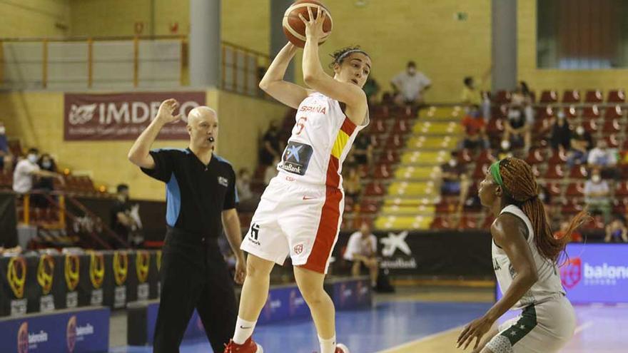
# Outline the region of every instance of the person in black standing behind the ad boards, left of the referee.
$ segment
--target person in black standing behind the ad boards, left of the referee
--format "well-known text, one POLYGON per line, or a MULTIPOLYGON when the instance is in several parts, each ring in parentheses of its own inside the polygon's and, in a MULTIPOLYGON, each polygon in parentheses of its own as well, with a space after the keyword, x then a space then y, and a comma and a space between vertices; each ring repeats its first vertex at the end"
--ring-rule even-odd
MULTIPOLYGON (((109 210, 111 230, 122 240, 128 241, 131 245, 137 247, 141 244, 141 235, 139 235, 139 225, 136 218, 133 217, 133 206, 128 201, 128 185, 119 184, 116 187, 116 201, 109 210)), ((118 247, 118 242, 111 240, 110 244, 113 248, 118 247)))

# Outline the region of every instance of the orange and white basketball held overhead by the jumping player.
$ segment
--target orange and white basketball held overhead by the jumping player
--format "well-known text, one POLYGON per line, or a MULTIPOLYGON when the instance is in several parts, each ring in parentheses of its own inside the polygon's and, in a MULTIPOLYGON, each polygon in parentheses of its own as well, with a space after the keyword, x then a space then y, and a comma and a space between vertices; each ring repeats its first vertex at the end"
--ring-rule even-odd
MULTIPOLYGON (((325 18, 325 22, 323 23, 323 31, 325 33, 330 34, 333 28, 333 21, 331 19, 331 14, 329 10, 323 5, 320 1, 316 0, 299 0, 295 1, 287 10, 285 10, 285 14, 283 15, 283 33, 295 46, 299 48, 303 48, 305 46, 305 24, 299 18, 299 14, 303 15, 306 20, 310 19, 310 14, 308 14, 308 7, 312 8, 312 14, 316 16, 316 8, 320 6, 321 9, 325 9, 327 12, 327 17, 325 18)), ((329 35, 328 35, 329 36, 329 35)), ((318 41, 318 45, 325 43, 328 36, 325 36, 318 41)))

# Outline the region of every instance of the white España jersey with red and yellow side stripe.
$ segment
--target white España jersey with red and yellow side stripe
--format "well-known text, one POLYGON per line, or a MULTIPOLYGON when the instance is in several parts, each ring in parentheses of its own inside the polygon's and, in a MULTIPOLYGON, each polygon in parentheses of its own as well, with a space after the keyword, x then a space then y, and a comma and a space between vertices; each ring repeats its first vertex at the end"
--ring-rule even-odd
POLYGON ((295 126, 280 163, 279 175, 301 183, 342 188, 340 175, 358 131, 368 125, 356 126, 340 108, 340 103, 322 93, 314 92, 299 105, 295 126))

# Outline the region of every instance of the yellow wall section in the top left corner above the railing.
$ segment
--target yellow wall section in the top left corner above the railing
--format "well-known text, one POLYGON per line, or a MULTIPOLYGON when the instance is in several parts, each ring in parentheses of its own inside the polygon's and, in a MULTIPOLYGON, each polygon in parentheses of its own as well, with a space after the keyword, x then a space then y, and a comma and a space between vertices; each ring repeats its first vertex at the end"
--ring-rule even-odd
POLYGON ((0 1, 0 38, 61 37, 69 34, 69 0, 0 1), (60 28, 61 27, 61 28, 60 28))

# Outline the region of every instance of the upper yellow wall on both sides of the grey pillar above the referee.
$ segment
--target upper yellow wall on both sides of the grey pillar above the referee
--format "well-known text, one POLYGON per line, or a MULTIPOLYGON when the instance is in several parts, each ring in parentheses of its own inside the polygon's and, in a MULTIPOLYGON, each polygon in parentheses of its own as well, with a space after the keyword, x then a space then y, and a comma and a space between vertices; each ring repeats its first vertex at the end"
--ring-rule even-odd
MULTIPOLYGON (((143 34, 151 34, 151 3, 154 4, 156 35, 190 31, 188 0, 70 0, 73 36, 133 36, 135 23, 144 24, 143 34)), ((222 1, 223 41, 268 53, 270 0, 222 1), (243 25, 245 24, 245 25, 243 25)))

